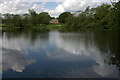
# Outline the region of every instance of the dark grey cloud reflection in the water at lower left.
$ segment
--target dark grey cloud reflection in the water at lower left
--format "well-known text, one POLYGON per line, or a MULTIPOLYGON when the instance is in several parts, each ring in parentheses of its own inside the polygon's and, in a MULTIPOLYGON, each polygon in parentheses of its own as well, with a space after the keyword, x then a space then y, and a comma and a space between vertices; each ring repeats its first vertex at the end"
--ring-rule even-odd
POLYGON ((20 51, 11 49, 2 49, 2 71, 7 71, 12 69, 16 72, 22 72, 25 66, 31 65, 35 62, 34 59, 27 58, 24 53, 21 54, 20 51))

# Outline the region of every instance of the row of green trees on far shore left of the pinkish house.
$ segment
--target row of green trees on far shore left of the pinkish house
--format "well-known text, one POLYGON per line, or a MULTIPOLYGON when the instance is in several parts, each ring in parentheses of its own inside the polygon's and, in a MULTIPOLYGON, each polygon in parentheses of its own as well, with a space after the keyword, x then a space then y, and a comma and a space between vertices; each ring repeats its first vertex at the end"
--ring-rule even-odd
POLYGON ((29 13, 26 14, 3 14, 2 24, 9 27, 33 27, 43 26, 49 24, 52 19, 47 12, 36 13, 35 10, 30 9, 29 13))

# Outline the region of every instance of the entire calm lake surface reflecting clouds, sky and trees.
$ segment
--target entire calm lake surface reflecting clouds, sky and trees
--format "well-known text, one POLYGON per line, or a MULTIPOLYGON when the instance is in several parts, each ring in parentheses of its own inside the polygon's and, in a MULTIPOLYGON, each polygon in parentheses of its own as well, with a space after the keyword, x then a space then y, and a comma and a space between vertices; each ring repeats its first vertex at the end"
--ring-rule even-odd
POLYGON ((3 32, 4 78, 118 78, 120 32, 3 32))

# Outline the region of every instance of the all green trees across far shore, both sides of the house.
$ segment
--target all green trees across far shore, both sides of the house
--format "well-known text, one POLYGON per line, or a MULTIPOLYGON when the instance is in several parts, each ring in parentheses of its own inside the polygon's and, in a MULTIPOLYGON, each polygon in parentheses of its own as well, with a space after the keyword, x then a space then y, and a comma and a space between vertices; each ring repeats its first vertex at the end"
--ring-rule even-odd
MULTIPOLYGON (((47 12, 36 13, 30 9, 26 14, 2 14, 2 26, 10 27, 36 27, 49 24, 53 19, 47 12)), ((85 11, 74 13, 64 12, 58 17, 60 23, 65 26, 63 30, 80 29, 115 29, 120 30, 120 1, 111 4, 102 4, 96 8, 89 6, 85 11)), ((1 20, 1 19, 0 19, 1 20)))

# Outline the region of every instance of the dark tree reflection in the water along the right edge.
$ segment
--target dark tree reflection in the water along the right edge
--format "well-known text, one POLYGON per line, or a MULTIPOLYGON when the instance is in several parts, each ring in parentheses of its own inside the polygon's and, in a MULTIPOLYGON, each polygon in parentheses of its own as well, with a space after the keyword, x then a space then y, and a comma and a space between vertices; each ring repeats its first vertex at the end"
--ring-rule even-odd
POLYGON ((94 34, 95 43, 102 53, 107 54, 107 62, 109 65, 116 65, 120 71, 120 32, 119 31, 103 31, 94 34), (104 35, 104 36, 102 36, 104 35))

